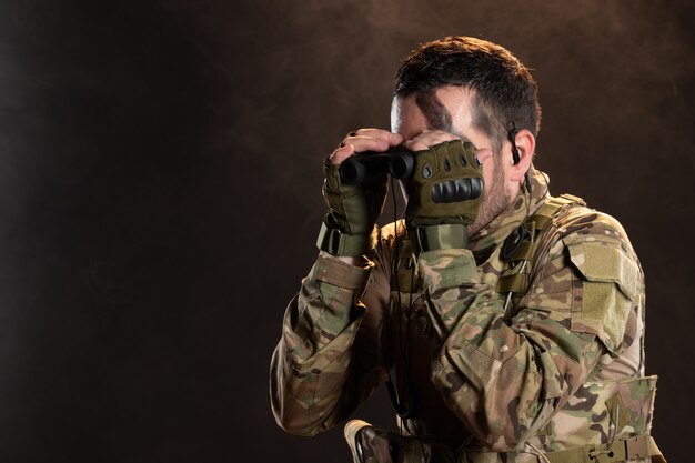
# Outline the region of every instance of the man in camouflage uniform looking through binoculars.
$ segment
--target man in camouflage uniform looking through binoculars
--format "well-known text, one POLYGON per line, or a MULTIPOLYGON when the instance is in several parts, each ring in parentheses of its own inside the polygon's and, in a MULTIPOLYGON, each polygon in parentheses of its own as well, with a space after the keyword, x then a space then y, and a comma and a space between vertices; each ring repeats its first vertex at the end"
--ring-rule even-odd
POLYGON ((403 61, 391 131, 351 132, 324 162, 321 252, 271 365, 283 429, 336 426, 385 381, 397 432, 350 422, 355 462, 664 461, 637 256, 615 219, 550 195, 540 119, 533 78, 494 43, 403 61), (379 229, 383 169, 350 184, 340 165, 396 147, 414 160, 405 220, 379 229))

